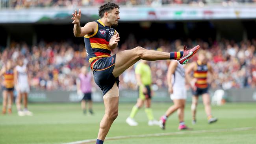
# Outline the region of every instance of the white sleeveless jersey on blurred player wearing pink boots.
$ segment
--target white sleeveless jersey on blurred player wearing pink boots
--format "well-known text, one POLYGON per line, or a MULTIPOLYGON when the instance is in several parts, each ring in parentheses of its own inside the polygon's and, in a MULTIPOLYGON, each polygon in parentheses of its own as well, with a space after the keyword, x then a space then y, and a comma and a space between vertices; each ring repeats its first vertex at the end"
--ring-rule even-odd
POLYGON ((185 87, 185 68, 177 61, 178 65, 172 75, 173 87, 184 89, 185 87))

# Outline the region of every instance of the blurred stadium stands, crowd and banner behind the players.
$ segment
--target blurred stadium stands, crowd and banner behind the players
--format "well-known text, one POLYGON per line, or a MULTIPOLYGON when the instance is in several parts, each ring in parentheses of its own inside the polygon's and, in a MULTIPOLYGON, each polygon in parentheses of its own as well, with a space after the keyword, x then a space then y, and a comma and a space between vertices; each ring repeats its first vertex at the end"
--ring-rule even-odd
MULTIPOLYGON (((73 35, 71 14, 81 8, 83 26, 98 19, 98 6, 105 2, 121 6, 115 28, 121 41, 113 54, 135 46, 172 52, 200 45, 217 74, 210 81, 211 92, 225 90, 227 101, 256 101, 255 0, 1 0, 0 66, 26 57, 31 101, 54 101, 51 95, 63 95, 59 91, 65 91, 59 101, 79 100, 72 91, 88 62, 83 38, 73 35)), ((150 63, 153 88, 159 91, 155 100, 168 99, 168 64, 150 63)), ((121 101, 134 101, 125 92, 136 90, 134 67, 120 81, 121 101)), ((94 91, 94 100, 101 101, 96 85, 94 91)))

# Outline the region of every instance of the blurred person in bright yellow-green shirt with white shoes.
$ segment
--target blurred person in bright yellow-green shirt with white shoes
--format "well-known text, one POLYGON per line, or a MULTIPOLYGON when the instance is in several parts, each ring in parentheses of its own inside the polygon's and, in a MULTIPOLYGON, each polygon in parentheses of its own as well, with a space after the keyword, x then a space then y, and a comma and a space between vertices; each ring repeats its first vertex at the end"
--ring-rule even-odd
POLYGON ((137 99, 136 105, 132 108, 130 116, 126 119, 127 124, 130 126, 137 126, 138 123, 134 120, 134 116, 137 114, 138 110, 145 103, 145 113, 148 116, 148 126, 159 125, 159 122, 154 119, 151 107, 151 97, 152 97, 152 78, 151 70, 148 62, 141 60, 135 67, 135 75, 137 79, 137 85, 139 86, 139 98, 137 99))

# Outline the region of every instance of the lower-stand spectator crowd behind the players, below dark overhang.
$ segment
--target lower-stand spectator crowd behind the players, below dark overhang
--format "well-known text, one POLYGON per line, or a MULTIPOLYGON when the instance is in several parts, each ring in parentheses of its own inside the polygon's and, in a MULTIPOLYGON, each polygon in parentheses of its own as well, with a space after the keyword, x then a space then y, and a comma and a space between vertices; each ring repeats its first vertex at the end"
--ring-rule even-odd
MULTIPOLYGON (((142 46, 148 50, 162 52, 177 51, 186 44, 189 47, 200 45, 207 51, 206 57, 215 71, 210 76, 211 88, 244 88, 256 87, 256 40, 234 42, 227 39, 208 42, 197 39, 195 41, 175 40, 167 41, 136 41, 130 36, 119 47, 112 51, 119 51, 142 46)), ((76 90, 76 78, 83 65, 88 66, 86 51, 83 44, 75 45, 72 42, 45 42, 36 46, 28 46, 24 42, 11 42, 10 46, 0 53, 0 67, 7 59, 15 63, 24 59, 28 66, 28 76, 32 89, 42 90, 76 90)), ((190 60, 196 61, 197 55, 190 60)), ((136 64, 135 64, 136 65, 136 64)), ((169 61, 154 61, 149 63, 152 70, 152 81, 157 88, 166 88, 166 74, 169 61)), ((2 78, 1 78, 2 79, 2 78)), ((131 66, 120 77, 120 89, 136 89, 134 66, 131 66)), ((97 86, 95 86, 99 89, 97 86)))

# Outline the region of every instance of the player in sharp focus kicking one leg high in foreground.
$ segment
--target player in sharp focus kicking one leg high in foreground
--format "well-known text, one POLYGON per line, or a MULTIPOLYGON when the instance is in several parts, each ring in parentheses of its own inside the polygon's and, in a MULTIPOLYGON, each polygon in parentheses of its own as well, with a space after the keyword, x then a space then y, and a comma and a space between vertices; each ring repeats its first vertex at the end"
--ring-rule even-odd
POLYGON ((108 2, 99 7, 99 20, 88 22, 81 28, 81 10, 73 13, 73 32, 75 37, 84 37, 85 48, 95 83, 103 91, 105 115, 100 122, 100 129, 96 144, 103 144, 108 131, 118 115, 119 76, 140 59, 156 61, 176 59, 180 63, 187 63, 198 50, 199 46, 182 52, 158 52, 146 50, 140 46, 132 50, 124 50, 111 56, 111 50, 120 41, 119 33, 112 26, 117 26, 120 19, 119 6, 108 2))

